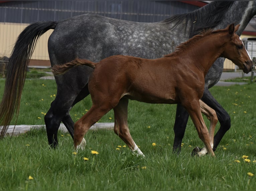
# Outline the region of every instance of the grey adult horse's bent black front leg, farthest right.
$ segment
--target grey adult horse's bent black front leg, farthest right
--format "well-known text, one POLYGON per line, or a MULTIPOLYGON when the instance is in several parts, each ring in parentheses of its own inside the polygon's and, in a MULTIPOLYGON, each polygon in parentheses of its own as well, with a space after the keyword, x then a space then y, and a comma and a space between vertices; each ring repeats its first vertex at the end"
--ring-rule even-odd
POLYGON ((220 122, 220 128, 214 136, 213 150, 215 151, 224 134, 230 129, 230 116, 220 105, 220 103, 218 103, 218 101, 212 96, 208 88, 205 88, 203 97, 201 99, 216 111, 218 120, 220 122))

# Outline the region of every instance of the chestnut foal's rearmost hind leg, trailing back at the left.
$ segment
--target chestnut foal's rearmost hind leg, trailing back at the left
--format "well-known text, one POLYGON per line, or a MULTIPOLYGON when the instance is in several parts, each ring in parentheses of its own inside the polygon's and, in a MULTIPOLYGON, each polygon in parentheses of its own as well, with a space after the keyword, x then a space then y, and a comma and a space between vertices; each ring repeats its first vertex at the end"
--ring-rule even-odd
POLYGON ((84 136, 89 128, 95 124, 98 120, 101 119, 103 115, 105 115, 108 111, 110 111, 113 107, 106 103, 101 104, 93 104, 91 109, 82 116, 74 126, 74 146, 75 149, 81 148, 83 149, 85 146, 84 136))

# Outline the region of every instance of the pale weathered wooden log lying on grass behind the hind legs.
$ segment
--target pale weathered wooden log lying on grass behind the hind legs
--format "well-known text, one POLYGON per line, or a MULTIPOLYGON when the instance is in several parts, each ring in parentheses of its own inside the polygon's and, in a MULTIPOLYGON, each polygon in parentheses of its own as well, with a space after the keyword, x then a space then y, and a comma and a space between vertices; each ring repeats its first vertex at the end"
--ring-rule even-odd
MULTIPOLYGON (((45 128, 45 125, 10 125, 5 134, 9 136, 16 136, 22 133, 26 133, 31 129, 40 129, 45 128)), ((113 129, 114 123, 95 123, 89 130, 98 130, 98 129, 113 129)), ((60 124, 59 130, 62 132, 68 132, 64 124, 60 124)))

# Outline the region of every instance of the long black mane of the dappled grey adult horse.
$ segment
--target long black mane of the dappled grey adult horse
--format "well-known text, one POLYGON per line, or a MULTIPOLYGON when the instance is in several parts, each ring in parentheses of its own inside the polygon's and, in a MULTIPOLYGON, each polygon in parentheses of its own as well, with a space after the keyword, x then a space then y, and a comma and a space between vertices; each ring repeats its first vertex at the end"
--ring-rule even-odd
POLYGON ((225 13, 233 3, 234 1, 213 1, 198 10, 177 14, 161 22, 163 22, 163 24, 174 22, 174 26, 170 28, 174 29, 185 20, 186 26, 190 25, 189 38, 191 38, 199 34, 202 30, 216 27, 223 20, 225 13))

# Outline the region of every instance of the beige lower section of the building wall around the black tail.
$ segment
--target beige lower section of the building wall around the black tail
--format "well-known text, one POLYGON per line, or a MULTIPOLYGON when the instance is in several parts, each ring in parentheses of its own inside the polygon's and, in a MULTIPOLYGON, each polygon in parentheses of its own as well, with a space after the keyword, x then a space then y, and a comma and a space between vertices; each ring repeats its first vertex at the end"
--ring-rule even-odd
MULTIPOLYGON (((0 57, 10 57, 19 34, 26 26, 28 24, 0 23, 0 57)), ((39 38, 31 59, 49 60, 47 42, 52 31, 52 29, 48 30, 39 38)))

